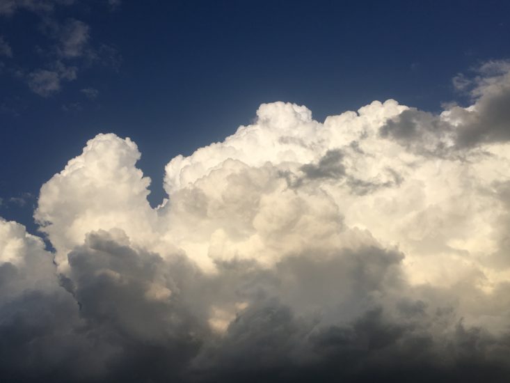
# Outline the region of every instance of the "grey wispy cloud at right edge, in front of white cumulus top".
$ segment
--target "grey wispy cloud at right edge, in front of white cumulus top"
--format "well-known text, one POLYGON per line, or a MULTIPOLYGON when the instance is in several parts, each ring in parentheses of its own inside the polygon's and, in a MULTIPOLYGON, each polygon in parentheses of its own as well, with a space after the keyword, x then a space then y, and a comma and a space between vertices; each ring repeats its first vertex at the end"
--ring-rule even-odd
POLYGON ((382 134, 415 146, 414 151, 445 155, 480 143, 510 139, 510 63, 489 61, 475 69, 475 77, 454 77, 454 86, 468 92, 470 107, 453 105, 439 116, 408 109, 388 121, 382 134))

